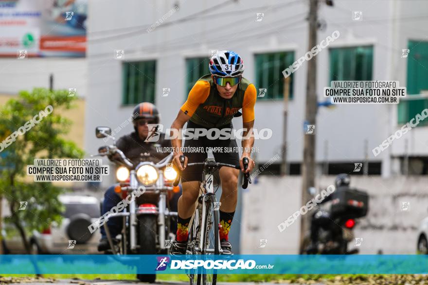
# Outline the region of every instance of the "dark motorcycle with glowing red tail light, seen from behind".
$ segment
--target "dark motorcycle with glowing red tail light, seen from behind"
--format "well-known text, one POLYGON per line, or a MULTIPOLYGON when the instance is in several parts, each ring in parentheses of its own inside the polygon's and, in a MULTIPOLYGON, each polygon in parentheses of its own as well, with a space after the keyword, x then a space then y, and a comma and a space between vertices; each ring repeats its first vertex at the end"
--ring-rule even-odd
MULTIPOLYGON (((310 188, 312 196, 315 188, 310 188)), ((365 217, 368 211, 367 192, 349 187, 339 187, 331 199, 321 201, 318 209, 311 216, 311 229, 303 240, 301 254, 356 254, 358 249, 348 251, 348 243, 355 240, 354 228, 358 218, 365 217), (317 233, 314 233, 317 231, 317 233), (318 235, 318 242, 313 246, 311 236, 318 235)))

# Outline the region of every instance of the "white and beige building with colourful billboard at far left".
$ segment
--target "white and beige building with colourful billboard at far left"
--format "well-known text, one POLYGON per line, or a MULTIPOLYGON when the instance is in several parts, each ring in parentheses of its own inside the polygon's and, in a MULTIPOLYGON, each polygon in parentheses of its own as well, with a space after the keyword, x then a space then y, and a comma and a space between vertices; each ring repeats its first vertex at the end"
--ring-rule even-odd
POLYGON ((87 1, 16 0, 0 3, 0 105, 35 87, 75 89, 76 108, 66 139, 84 147, 88 64, 87 1), (65 20, 66 12, 73 16, 65 20))

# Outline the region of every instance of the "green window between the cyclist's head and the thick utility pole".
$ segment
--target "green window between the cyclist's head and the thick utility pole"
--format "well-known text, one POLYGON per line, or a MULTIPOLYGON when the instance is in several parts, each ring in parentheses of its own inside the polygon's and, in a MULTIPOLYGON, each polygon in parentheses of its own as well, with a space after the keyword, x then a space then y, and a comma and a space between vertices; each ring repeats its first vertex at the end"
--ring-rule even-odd
MULTIPOLYGON (((259 100, 284 98, 284 74, 285 68, 292 65, 294 61, 293 51, 281 51, 262 53, 255 55, 255 85, 258 89, 267 89, 264 97, 259 100)), ((245 64, 245 62, 244 62, 245 64)), ((293 74, 290 76, 289 98, 293 98, 293 74)), ((257 90, 259 93, 259 90, 257 90)))

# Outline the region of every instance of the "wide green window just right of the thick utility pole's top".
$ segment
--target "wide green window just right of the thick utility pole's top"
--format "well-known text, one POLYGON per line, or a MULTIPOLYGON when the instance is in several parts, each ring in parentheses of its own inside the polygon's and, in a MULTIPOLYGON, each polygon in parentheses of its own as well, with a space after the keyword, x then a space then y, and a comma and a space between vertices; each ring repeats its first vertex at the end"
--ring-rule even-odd
POLYGON ((372 79, 373 46, 330 49, 330 81, 372 79))

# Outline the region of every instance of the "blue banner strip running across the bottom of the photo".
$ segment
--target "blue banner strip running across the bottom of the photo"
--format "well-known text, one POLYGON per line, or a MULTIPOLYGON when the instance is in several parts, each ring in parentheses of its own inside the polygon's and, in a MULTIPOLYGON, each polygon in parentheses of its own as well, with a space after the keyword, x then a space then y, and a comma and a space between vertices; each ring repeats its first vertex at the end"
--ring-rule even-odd
POLYGON ((0 274, 427 274, 427 255, 0 255, 0 274), (193 270, 193 271, 192 271, 193 270))

